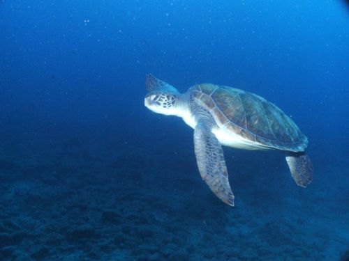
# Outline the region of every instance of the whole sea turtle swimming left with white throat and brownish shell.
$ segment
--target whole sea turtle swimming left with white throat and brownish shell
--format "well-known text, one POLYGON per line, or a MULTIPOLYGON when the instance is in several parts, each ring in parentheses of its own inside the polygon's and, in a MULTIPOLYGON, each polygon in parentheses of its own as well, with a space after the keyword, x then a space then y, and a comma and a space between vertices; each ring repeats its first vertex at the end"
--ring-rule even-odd
POLYGON ((300 187, 312 180, 313 166, 304 150, 308 139, 276 105, 244 90, 197 84, 184 94, 146 77, 144 105, 156 113, 179 116, 194 129, 200 175, 224 203, 234 206, 222 145, 246 150, 283 150, 293 179, 300 187))

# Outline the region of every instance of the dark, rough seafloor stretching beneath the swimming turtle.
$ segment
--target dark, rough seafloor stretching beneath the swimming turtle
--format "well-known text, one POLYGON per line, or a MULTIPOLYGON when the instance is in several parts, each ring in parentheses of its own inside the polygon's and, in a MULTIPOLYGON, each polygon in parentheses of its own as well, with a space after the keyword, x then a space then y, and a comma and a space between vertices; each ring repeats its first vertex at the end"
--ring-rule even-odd
POLYGON ((137 144, 73 138, 1 155, 0 260, 348 259, 344 161, 315 166, 302 189, 283 155, 225 148, 232 208, 184 144, 137 144))

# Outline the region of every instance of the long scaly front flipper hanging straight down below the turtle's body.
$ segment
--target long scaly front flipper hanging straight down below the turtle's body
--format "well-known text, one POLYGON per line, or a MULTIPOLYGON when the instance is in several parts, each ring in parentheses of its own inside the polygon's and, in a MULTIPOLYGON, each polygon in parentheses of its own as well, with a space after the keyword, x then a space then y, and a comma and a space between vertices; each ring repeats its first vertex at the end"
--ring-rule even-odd
POLYGON ((199 121, 194 130, 195 155, 200 175, 218 198, 234 206, 234 195, 228 180, 223 149, 211 132, 209 123, 205 120, 199 121))

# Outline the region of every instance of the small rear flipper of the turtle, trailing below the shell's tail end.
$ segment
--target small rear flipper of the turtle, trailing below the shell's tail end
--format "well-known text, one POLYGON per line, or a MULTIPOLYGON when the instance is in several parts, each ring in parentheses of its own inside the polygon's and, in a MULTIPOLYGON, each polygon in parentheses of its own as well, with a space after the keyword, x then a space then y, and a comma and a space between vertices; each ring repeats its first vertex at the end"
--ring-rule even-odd
POLYGON ((286 152, 286 161, 298 186, 306 187, 313 180, 313 164, 304 152, 286 152))

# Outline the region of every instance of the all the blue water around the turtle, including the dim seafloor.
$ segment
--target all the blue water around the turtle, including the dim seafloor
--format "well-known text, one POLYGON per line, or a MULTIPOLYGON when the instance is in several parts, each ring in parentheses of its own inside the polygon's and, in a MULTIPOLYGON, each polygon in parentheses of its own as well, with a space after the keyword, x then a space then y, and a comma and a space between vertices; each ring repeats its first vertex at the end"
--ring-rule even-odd
POLYGON ((0 260, 348 260, 347 3, 1 1, 0 260), (224 147, 225 205, 193 129, 144 107, 147 73, 277 104, 313 182, 224 147))

